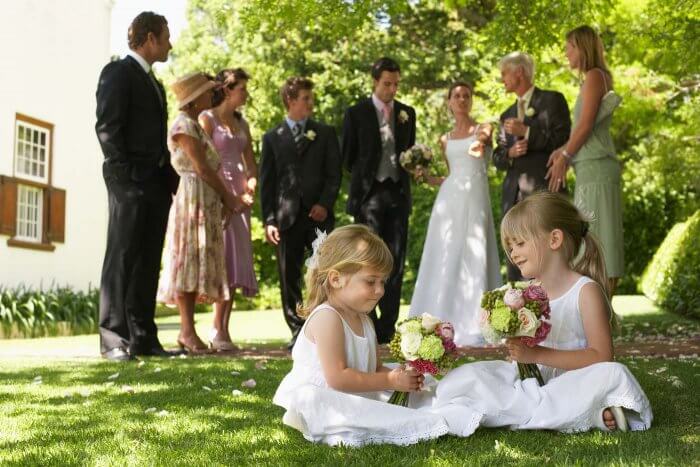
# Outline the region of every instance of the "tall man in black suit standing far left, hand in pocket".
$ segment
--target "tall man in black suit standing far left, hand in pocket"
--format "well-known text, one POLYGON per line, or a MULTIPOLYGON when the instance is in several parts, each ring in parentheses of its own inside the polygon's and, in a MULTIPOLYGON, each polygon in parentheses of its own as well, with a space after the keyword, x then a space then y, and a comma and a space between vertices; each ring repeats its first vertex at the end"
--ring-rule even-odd
POLYGON ((104 153, 109 227, 100 284, 100 350, 111 360, 170 355, 154 321, 172 193, 165 92, 151 71, 168 59, 163 16, 143 12, 129 27, 129 55, 109 63, 97 86, 95 131, 104 153))

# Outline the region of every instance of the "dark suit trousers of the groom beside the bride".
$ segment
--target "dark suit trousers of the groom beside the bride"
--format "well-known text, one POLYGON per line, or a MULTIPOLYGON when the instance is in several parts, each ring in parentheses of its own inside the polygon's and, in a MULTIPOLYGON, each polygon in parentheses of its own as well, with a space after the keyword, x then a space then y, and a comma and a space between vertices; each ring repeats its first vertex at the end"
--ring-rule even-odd
POLYGON ((384 296, 377 304, 381 315, 377 315, 376 309, 370 314, 380 344, 391 340, 399 317, 408 240, 408 203, 408 196, 403 193, 400 182, 391 179, 375 181, 355 219, 379 235, 394 258, 394 268, 384 286, 384 296))

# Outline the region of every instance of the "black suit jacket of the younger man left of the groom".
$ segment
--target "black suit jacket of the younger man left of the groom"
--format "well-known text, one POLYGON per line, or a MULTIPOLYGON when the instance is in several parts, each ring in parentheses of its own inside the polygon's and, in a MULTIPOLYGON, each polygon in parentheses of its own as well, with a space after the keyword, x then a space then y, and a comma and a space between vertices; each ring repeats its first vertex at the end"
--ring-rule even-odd
POLYGON ((302 208, 320 204, 333 216, 340 189, 340 148, 335 129, 307 120, 301 150, 283 121, 265 133, 260 160, 260 201, 263 222, 280 231, 291 227, 302 208))

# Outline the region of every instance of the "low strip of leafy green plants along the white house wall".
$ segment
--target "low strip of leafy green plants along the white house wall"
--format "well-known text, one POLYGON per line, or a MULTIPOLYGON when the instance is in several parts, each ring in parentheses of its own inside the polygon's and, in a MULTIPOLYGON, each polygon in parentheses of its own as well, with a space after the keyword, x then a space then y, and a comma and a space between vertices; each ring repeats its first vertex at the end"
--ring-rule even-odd
POLYGON ((100 294, 67 287, 0 287, 0 337, 40 337, 97 331, 100 294))

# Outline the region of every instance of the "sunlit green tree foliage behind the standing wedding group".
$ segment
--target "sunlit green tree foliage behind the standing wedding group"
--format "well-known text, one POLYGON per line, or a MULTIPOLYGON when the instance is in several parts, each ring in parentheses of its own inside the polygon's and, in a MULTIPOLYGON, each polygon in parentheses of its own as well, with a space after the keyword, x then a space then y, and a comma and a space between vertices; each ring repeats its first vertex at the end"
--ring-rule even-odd
MULTIPOLYGON (((683 0, 190 0, 170 79, 194 70, 245 68, 253 76, 245 115, 258 142, 284 115, 278 90, 287 77, 314 80, 316 116, 339 130, 345 109, 371 92, 370 64, 389 55, 402 66, 399 98, 417 110, 418 140, 437 150, 438 136, 450 126, 444 99, 454 80, 476 83, 474 113, 480 119, 510 105, 513 97, 503 93, 496 64, 512 50, 533 55, 537 84, 560 90, 572 104, 579 81, 566 66, 564 35, 591 24, 601 32, 624 98, 613 136, 625 163, 629 274, 623 290, 631 291, 670 226, 698 207, 700 60, 692 46, 698 18, 697 4, 683 0)), ((491 169, 496 219, 501 177, 491 169)), ((344 215, 345 193, 336 206, 339 223, 351 220, 344 215)), ((434 196, 430 187, 414 189, 406 299, 434 196)), ((254 217, 256 267, 265 290, 275 291, 274 251, 264 245, 254 217)), ((270 292, 256 305, 276 300, 270 292)))

